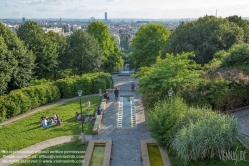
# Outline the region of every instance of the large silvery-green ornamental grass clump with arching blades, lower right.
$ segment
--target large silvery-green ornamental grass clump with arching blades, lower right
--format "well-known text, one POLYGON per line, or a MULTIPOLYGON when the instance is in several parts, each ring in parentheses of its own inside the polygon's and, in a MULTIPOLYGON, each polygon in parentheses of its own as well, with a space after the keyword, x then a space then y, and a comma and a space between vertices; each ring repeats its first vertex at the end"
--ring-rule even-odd
POLYGON ((209 109, 190 109, 174 126, 170 149, 185 163, 212 159, 229 150, 238 134, 238 122, 209 109))

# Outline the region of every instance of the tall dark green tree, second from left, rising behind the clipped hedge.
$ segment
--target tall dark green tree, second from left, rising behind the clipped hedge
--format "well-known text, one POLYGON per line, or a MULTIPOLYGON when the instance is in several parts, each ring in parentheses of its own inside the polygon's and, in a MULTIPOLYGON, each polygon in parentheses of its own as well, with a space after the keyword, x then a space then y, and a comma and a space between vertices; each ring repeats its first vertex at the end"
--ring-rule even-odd
POLYGON ((35 75, 38 78, 47 78, 48 73, 53 72, 58 65, 56 44, 34 21, 27 21, 22 24, 17 31, 17 35, 24 41, 28 49, 33 51, 36 57, 35 75))

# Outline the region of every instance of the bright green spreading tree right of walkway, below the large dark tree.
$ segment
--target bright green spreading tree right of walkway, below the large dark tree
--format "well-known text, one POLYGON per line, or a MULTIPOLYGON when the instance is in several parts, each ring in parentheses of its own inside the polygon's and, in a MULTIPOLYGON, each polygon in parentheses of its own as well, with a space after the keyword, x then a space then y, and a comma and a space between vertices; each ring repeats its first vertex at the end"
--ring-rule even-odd
POLYGON ((152 67, 139 69, 139 90, 145 107, 152 108, 158 100, 163 100, 169 89, 181 94, 198 84, 202 71, 200 65, 189 59, 193 56, 193 53, 167 54, 165 59, 158 58, 152 67))

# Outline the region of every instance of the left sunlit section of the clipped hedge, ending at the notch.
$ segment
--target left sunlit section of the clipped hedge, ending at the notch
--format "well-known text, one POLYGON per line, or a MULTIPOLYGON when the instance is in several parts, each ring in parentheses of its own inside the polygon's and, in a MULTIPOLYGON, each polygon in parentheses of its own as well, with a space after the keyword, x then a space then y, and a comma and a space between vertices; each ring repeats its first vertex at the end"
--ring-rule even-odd
POLYGON ((53 84, 30 86, 11 91, 0 98, 0 120, 30 111, 60 99, 59 88, 53 84))

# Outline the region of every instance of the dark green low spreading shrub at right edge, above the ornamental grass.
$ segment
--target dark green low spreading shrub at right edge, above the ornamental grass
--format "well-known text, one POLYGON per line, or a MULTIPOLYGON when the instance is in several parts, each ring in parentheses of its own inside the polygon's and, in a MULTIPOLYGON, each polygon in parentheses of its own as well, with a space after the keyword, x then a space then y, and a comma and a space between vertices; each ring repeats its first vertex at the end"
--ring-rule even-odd
POLYGON ((201 81, 181 94, 191 106, 208 106, 213 110, 229 110, 249 104, 249 84, 228 80, 201 81))

